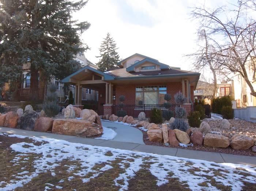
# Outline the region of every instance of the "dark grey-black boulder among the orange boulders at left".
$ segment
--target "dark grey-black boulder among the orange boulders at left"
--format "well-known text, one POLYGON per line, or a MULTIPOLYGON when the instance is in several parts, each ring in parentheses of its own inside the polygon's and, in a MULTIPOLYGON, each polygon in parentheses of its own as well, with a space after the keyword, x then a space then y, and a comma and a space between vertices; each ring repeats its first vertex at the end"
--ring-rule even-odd
POLYGON ((23 115, 18 119, 18 129, 24 130, 34 130, 35 122, 37 121, 39 115, 34 110, 27 110, 23 115))

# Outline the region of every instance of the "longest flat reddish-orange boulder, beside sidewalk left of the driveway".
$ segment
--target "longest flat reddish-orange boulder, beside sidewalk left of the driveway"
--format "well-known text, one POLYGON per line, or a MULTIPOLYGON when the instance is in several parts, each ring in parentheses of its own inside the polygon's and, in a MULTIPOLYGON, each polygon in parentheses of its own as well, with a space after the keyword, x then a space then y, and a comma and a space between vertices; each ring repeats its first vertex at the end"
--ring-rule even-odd
POLYGON ((92 137, 102 132, 102 126, 79 119, 55 119, 52 126, 52 133, 78 137, 92 137))

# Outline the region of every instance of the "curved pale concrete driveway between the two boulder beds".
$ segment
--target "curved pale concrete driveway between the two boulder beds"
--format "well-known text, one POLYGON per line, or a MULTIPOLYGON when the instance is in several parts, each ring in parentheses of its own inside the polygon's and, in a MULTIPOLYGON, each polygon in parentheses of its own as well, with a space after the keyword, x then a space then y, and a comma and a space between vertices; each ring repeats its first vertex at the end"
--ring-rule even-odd
POLYGON ((116 131, 117 135, 112 141, 130 142, 144 145, 143 133, 139 129, 132 126, 108 121, 101 121, 101 123, 102 126, 116 131))

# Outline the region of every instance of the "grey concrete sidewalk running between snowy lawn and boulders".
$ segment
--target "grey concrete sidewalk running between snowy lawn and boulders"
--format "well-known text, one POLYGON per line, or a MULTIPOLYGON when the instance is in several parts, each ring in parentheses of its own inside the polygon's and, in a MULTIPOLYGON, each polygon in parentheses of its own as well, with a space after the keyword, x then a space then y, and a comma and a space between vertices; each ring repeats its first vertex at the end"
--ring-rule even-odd
POLYGON ((66 140, 69 142, 82 143, 82 144, 93 145, 93 146, 106 146, 106 147, 111 147, 116 149, 133 150, 137 152, 146 152, 146 153, 155 153, 155 154, 170 155, 170 156, 176 156, 176 157, 193 158, 193 159, 213 161, 216 163, 234 163, 234 164, 245 164, 245 165, 248 164, 256 167, 256 157, 251 157, 251 156, 204 152, 204 151, 178 149, 178 148, 168 148, 168 147, 162 147, 162 146, 143 145, 143 144, 135 144, 135 143, 119 142, 119 141, 106 141, 106 140, 93 139, 93 138, 83 138, 83 137, 75 137, 75 136, 69 136, 69 135, 59 135, 59 134, 53 134, 53 133, 11 129, 8 127, 0 127, 0 132, 12 133, 17 135, 26 135, 29 137, 35 136, 40 138, 55 138, 60 140, 66 140))

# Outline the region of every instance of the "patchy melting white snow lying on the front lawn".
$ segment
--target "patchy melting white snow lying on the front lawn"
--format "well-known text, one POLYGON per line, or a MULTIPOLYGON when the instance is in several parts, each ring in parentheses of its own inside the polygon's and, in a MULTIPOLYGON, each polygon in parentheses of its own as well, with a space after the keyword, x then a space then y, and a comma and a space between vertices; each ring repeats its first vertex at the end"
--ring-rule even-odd
MULTIPOLYGON (((19 135, 5 134, 5 136, 20 138, 19 135)), ((71 143, 51 138, 32 137, 32 139, 44 142, 41 145, 19 142, 12 144, 10 148, 19 154, 38 154, 38 156, 41 156, 33 161, 35 172, 29 175, 25 173, 19 176, 14 175, 18 178, 15 177, 15 179, 8 181, 4 188, 0 187, 0 190, 14 190, 23 184, 29 183, 33 177, 38 176, 41 172, 54 172, 63 160, 79 161, 81 165, 79 170, 73 174, 71 173, 73 176, 68 177, 68 180, 80 178, 83 182, 88 182, 91 178, 95 178, 112 168, 111 164, 117 158, 122 158, 118 165, 124 169, 124 173, 120 173, 114 180, 114 184, 119 186, 120 190, 128 189, 128 181, 136 176, 136 172, 143 168, 144 164, 149 165, 148 170, 156 177, 157 186, 168 183, 170 174, 172 174, 172 178, 177 178, 180 182, 186 182, 191 190, 218 190, 215 187, 216 185, 214 186, 210 181, 207 181, 209 177, 225 186, 230 186, 232 190, 241 190, 244 181, 256 183, 256 168, 249 165, 219 164, 204 160, 71 143), (108 154, 109 152, 111 154, 108 154), (95 164, 103 164, 103 167, 95 169, 93 168, 95 164), (87 178, 85 178, 86 175, 87 178), (90 175, 89 178, 88 175, 90 175), (121 183, 120 180, 122 180, 121 183), (206 186, 202 183, 206 183, 206 186)), ((22 159, 19 160, 18 158, 19 156, 16 157, 17 160, 10 163, 21 163, 22 159)), ((1 184, 4 183, 1 182, 1 184)), ((49 187, 45 187, 45 189, 47 190, 49 187)))

